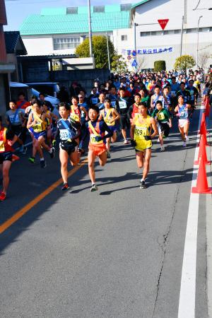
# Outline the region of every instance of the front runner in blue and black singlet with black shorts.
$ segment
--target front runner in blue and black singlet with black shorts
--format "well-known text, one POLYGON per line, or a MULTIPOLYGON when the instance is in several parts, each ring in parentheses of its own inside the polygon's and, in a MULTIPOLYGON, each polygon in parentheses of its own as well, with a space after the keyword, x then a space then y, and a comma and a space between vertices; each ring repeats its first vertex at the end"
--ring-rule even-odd
POLYGON ((61 162, 61 176, 64 181, 61 190, 64 191, 69 189, 67 170, 68 161, 70 160, 71 165, 77 165, 79 162, 77 152, 78 143, 76 140, 78 140, 81 134, 81 125, 69 116, 70 107, 64 102, 59 103, 59 114, 61 119, 57 122, 57 133, 52 143, 55 146, 56 139, 59 136, 59 160, 61 162))

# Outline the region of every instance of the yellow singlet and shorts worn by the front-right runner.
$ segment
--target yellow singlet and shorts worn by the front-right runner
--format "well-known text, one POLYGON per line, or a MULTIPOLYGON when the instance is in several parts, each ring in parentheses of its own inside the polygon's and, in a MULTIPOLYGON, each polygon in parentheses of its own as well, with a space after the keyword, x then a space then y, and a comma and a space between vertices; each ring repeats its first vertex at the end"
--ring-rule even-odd
POLYGON ((145 151, 152 147, 151 137, 146 140, 146 136, 151 135, 151 116, 141 118, 141 114, 135 114, 134 117, 134 141, 136 141, 136 151, 145 151))

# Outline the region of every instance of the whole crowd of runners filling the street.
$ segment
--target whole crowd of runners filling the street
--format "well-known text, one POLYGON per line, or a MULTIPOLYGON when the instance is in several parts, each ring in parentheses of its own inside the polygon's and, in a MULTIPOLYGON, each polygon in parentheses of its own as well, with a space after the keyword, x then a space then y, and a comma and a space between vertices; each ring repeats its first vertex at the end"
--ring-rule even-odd
MULTIPOLYGON (((201 95, 203 78, 199 71, 143 72, 115 75, 106 83, 94 81, 93 88, 86 90, 72 83, 70 92, 61 88, 58 98, 59 116, 45 94, 25 100, 20 92, 18 101, 9 102, 5 120, 0 117, 0 167, 3 188, 0 201, 6 199, 11 163, 18 160, 13 145, 19 144, 19 152, 28 152, 30 164, 40 158, 40 167, 47 161, 44 152, 54 160, 55 146, 59 143, 62 190, 69 189, 67 165, 78 165, 81 155, 88 151, 90 191, 98 190, 95 184, 95 158, 105 165, 111 158, 110 144, 123 139, 124 145, 132 146, 141 172, 140 188, 146 188, 152 139, 158 137, 160 151, 165 151, 164 139, 169 136, 173 120, 178 121, 182 146, 189 140, 189 124, 201 95), (6 122, 6 125, 3 125, 6 122), (25 146, 30 136, 32 148, 25 146)), ((203 98, 210 94, 211 83, 205 84, 203 98)), ((131 147, 129 147, 131 148, 131 147)))

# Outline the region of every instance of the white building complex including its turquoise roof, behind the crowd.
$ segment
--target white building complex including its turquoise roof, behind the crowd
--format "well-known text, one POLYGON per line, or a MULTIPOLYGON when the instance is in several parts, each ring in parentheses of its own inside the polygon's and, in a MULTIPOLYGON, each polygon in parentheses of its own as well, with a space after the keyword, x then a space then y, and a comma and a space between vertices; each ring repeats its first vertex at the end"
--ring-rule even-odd
MULTIPOLYGON (((172 69, 180 55, 184 17, 182 54, 192 55, 196 60, 199 22, 199 66, 202 66, 204 55, 212 56, 212 11, 208 10, 212 8, 212 0, 201 0, 194 10, 198 2, 143 0, 137 4, 92 6, 93 35, 110 35, 114 48, 125 58, 136 49, 142 69, 153 69, 157 60, 165 60, 167 69, 172 69), (158 19, 168 19, 165 30, 158 19)), ((74 54, 88 37, 88 8, 43 9, 40 15, 31 15, 23 22, 20 34, 29 55, 74 54)), ((210 64, 212 59, 205 66, 210 64)))

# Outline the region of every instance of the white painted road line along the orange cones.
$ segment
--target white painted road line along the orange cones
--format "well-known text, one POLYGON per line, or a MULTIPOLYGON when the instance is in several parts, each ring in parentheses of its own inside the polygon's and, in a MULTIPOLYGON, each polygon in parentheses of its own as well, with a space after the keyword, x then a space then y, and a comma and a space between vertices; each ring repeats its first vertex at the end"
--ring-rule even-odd
MULTIPOLYGON (((199 114, 199 129, 201 114, 204 106, 201 106, 199 114)), ((196 138, 197 141, 198 137, 196 138)), ((198 157, 199 149, 196 147, 194 160, 198 157)), ((198 167, 193 167, 192 187, 196 186, 198 167)), ((179 294, 178 318, 195 318, 196 296, 196 245, 199 214, 199 194, 190 195, 189 213, 187 218, 187 232, 184 243, 184 256, 182 263, 182 277, 179 294)))

